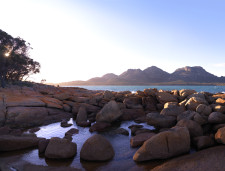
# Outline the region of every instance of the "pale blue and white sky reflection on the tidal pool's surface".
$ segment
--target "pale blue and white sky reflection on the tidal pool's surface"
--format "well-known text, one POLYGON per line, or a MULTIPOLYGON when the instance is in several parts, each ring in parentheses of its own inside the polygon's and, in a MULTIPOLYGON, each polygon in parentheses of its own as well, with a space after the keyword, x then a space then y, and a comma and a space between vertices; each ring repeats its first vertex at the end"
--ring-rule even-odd
MULTIPOLYGON (((133 121, 126 121, 121 123, 120 127, 128 130, 129 136, 112 135, 112 134, 109 134, 108 132, 101 133, 104 137, 106 137, 111 142, 115 151, 115 156, 114 156, 114 159, 109 162, 98 162, 98 163, 85 162, 85 161, 80 162, 80 150, 83 143, 95 133, 90 133, 89 128, 78 127, 72 119, 69 121, 69 123, 73 123, 73 125, 68 128, 62 128, 60 126, 60 123, 54 123, 47 126, 42 126, 41 129, 38 132, 36 132, 36 134, 38 137, 63 138, 65 132, 67 132, 69 129, 71 128, 79 129, 79 134, 75 134, 73 136, 73 142, 77 144, 77 155, 72 160, 65 160, 65 161, 46 160, 45 158, 39 157, 37 149, 24 154, 22 156, 22 159, 36 165, 71 166, 75 168, 85 168, 86 170, 92 170, 92 168, 96 168, 97 170, 99 169, 104 170, 107 167, 112 168, 116 166, 120 168, 121 164, 123 165, 124 169, 128 169, 136 165, 132 157, 134 153, 136 152, 137 148, 130 147, 131 131, 130 129, 128 129, 128 126, 132 124, 137 124, 137 123, 133 121)), ((140 125, 143 125, 144 128, 154 129, 154 127, 149 126, 145 123, 141 123, 140 125)))

